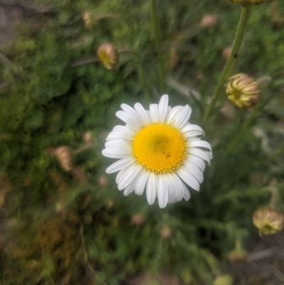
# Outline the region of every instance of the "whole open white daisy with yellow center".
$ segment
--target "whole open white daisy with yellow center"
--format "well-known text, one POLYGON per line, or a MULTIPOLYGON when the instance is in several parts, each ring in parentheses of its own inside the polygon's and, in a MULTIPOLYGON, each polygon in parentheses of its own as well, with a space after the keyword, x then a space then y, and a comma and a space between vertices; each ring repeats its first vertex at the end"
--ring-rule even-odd
POLYGON ((150 110, 140 103, 134 109, 127 104, 121 104, 121 108, 116 117, 126 125, 114 127, 102 151, 104 156, 119 158, 107 168, 107 173, 119 171, 119 190, 124 189, 124 195, 133 191, 142 195, 146 188, 148 203, 152 205, 158 197, 160 208, 182 198, 189 200, 185 183, 199 190, 204 161, 212 159, 210 144, 197 138, 204 131, 188 122, 190 106, 171 108, 168 95, 163 95, 159 104, 150 105, 150 110))

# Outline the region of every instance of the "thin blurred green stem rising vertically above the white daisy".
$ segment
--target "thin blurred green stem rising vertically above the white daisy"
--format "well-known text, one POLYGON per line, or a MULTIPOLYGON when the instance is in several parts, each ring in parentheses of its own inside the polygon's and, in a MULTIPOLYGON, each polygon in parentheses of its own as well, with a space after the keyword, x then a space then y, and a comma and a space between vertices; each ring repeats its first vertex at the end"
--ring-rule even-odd
POLYGON ((156 11, 156 4, 155 0, 151 0, 151 18, 152 18, 152 25, 153 30, 155 33, 155 48, 157 50, 158 54, 158 62, 160 65, 160 89, 162 92, 165 91, 165 65, 163 61, 163 53, 162 53, 162 47, 161 47, 161 41, 160 41, 160 29, 158 25, 158 15, 156 11))

